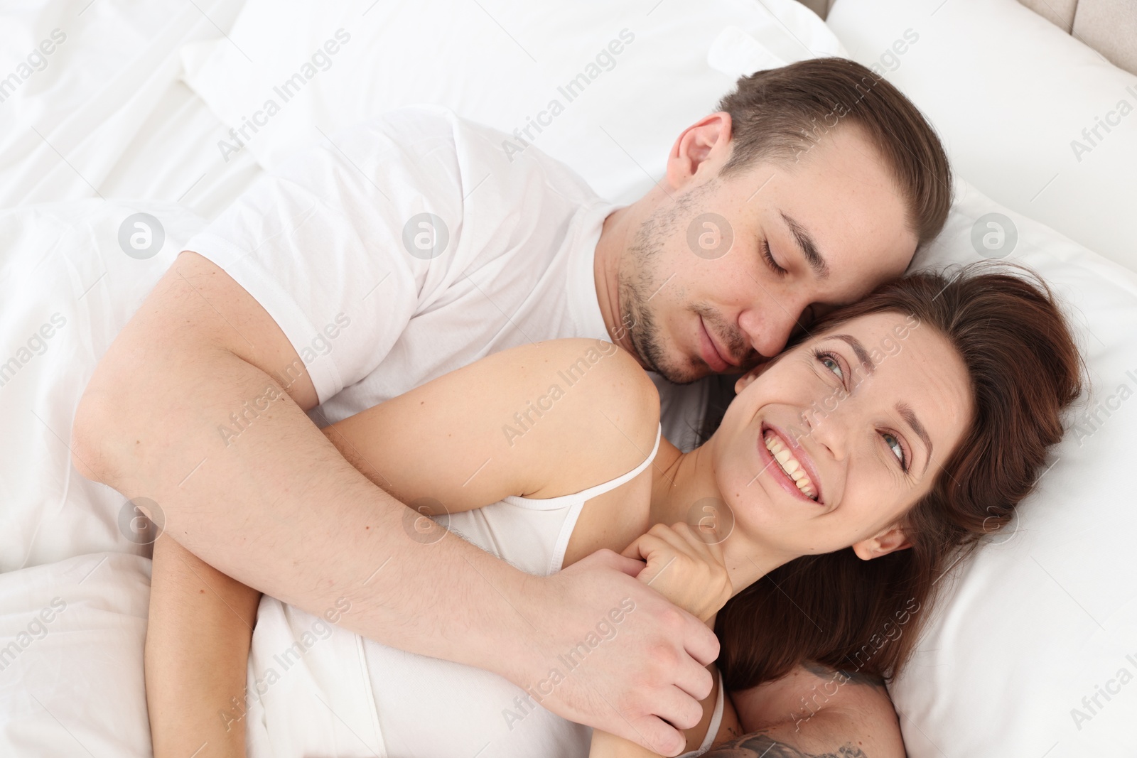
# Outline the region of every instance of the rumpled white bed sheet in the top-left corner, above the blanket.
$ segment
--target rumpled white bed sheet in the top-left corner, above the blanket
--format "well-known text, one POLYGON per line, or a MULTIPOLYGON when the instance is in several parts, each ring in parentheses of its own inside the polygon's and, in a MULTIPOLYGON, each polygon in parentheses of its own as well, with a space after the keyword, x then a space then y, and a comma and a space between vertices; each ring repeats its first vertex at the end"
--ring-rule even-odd
POLYGON ((209 219, 262 173, 223 159, 229 127, 182 81, 181 47, 224 39, 244 0, 57 0, 0 9, 0 208, 83 198, 180 202, 209 219))

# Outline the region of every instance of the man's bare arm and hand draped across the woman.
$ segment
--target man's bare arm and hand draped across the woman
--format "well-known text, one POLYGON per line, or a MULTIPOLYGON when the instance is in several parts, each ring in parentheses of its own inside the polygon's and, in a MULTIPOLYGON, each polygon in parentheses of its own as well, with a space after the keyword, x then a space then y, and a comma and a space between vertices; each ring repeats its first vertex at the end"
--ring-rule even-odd
POLYGON ((342 626, 522 688, 631 598, 628 633, 542 705, 664 755, 680 751, 675 727, 698 723, 711 691, 704 666, 719 645, 709 630, 611 551, 533 577, 463 540, 422 540, 417 514, 312 424, 305 411, 316 401, 264 308, 185 251, 96 368, 75 415, 73 463, 127 498, 155 501, 166 533, 234 580, 315 615, 349 598, 342 626), (221 433, 231 415, 243 418, 235 436, 221 433))

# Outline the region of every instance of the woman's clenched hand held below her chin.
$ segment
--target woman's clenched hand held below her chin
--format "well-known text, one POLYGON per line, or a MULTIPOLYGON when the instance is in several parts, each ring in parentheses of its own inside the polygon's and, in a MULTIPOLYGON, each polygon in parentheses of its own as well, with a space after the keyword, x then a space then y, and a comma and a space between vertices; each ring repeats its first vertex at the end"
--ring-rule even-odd
POLYGON ((708 543, 687 524, 656 524, 622 555, 647 561, 637 578, 704 622, 733 594, 722 545, 708 543))

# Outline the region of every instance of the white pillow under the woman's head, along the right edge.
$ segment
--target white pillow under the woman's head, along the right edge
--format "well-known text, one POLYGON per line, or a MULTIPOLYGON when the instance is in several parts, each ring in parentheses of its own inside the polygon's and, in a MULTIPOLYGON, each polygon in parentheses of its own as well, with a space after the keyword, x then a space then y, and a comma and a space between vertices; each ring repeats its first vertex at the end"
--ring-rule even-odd
POLYGON ((1014 522, 951 573, 890 688, 905 745, 912 758, 1137 755, 1137 497, 1124 474, 1137 448, 1137 274, 957 182, 944 232, 913 268, 1003 257, 1014 238, 1004 259, 1063 300, 1093 391, 1014 522), (984 247, 986 234, 1006 247, 984 247), (1107 684, 1112 700, 1088 710, 1082 698, 1107 684))

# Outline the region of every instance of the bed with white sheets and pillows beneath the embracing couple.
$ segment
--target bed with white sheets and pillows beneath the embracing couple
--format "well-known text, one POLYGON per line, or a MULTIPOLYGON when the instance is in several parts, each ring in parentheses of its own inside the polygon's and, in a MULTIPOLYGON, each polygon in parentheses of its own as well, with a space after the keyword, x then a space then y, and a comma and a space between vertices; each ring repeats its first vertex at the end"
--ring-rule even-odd
POLYGON ((624 30, 634 42, 534 140, 601 194, 642 194, 738 75, 844 55, 929 115, 958 172, 914 267, 1004 257, 1055 285, 1093 392, 1015 522, 944 577, 890 689, 913 757, 1137 753, 1137 76, 1135 38, 1101 28, 1134 11, 1043 5, 838 0, 825 22, 792 0, 0 11, 0 755, 150 755, 153 532, 72 468, 67 442, 98 358, 181 244, 290 150, 375 110, 438 102, 512 133, 624 30), (993 214, 1013 244, 972 242, 993 214))

